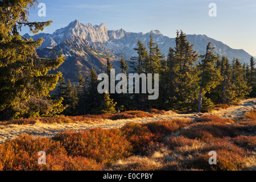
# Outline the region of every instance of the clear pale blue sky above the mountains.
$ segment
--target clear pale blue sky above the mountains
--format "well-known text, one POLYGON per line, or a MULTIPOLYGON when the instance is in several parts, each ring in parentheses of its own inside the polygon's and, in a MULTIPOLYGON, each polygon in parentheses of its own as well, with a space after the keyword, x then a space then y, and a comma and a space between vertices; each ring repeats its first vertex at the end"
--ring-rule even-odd
MULTIPOLYGON (((38 10, 29 20, 53 20, 44 32, 52 33, 78 19, 81 23, 105 23, 108 30, 123 28, 147 33, 159 30, 175 38, 176 30, 185 34, 205 34, 235 49, 256 56, 255 0, 38 0, 46 4, 46 17, 38 10), (208 7, 216 3, 217 16, 210 17, 208 7)), ((26 33, 26 29, 22 34, 26 33)))

